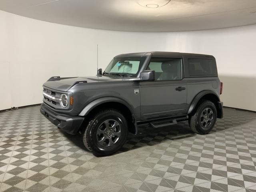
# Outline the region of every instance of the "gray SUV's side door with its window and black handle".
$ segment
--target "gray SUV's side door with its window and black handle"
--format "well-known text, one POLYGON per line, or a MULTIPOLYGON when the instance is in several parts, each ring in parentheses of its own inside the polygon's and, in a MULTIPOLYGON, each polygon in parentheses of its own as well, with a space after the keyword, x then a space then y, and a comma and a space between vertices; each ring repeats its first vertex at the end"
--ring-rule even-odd
POLYGON ((141 120, 186 114, 187 86, 182 79, 182 58, 152 58, 147 70, 154 81, 140 82, 141 120))

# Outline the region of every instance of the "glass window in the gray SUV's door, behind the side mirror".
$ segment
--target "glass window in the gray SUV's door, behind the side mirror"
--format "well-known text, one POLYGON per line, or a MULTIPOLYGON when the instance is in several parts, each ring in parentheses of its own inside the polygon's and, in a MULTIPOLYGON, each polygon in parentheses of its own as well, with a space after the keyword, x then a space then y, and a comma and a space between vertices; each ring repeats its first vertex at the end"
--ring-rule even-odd
POLYGON ((156 80, 180 80, 181 59, 180 58, 152 58, 147 70, 154 70, 156 80))

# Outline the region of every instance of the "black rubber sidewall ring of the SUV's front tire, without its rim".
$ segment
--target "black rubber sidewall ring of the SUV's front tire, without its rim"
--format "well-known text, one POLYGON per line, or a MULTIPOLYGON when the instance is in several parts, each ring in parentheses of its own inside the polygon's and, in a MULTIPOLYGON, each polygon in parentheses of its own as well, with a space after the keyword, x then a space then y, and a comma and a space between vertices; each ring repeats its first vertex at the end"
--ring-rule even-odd
POLYGON ((94 119, 86 129, 88 132, 88 134, 86 135, 87 140, 88 142, 90 142, 92 150, 98 155, 108 155, 118 151, 126 141, 126 137, 128 134, 128 125, 126 119, 121 113, 116 111, 98 114, 94 117, 94 119), (97 130, 102 122, 108 119, 116 120, 120 124, 121 136, 113 146, 104 147, 98 143, 97 130))

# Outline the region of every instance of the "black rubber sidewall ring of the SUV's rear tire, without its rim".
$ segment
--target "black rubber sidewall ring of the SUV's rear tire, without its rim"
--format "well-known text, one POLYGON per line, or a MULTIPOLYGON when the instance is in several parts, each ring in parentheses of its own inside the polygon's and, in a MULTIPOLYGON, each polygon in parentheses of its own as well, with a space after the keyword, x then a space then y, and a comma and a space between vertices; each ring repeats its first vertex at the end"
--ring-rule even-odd
POLYGON ((217 119, 216 106, 214 105, 214 103, 212 103, 210 101, 204 102, 199 106, 197 113, 198 114, 197 114, 197 118, 196 118, 196 126, 198 128, 198 131, 202 132, 204 134, 209 133, 212 130, 212 128, 214 127, 215 123, 216 123, 216 119, 217 119), (200 123, 201 114, 204 111, 204 109, 206 109, 206 108, 210 108, 213 112, 213 122, 208 128, 202 127, 202 125, 200 123))

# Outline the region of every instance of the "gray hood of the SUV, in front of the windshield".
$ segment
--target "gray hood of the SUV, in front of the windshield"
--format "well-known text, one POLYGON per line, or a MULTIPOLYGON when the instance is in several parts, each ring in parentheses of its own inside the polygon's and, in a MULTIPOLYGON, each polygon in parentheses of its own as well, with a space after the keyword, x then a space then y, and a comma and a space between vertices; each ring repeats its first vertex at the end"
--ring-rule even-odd
MULTIPOLYGON (((136 78, 137 79, 137 78, 136 78)), ((68 91, 72 86, 79 83, 96 83, 96 82, 109 82, 109 81, 125 81, 125 80, 135 80, 135 78, 130 77, 119 77, 119 76, 90 76, 90 77, 52 77, 43 86, 59 90, 68 91)))

